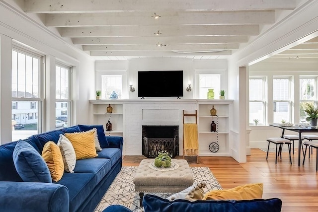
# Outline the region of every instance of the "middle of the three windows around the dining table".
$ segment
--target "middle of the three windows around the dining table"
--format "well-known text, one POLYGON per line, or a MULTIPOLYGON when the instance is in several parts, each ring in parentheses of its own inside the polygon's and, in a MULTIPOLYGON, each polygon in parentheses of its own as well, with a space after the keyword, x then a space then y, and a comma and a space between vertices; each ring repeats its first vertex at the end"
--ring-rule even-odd
POLYGON ((292 122, 291 77, 273 77, 273 123, 292 122))

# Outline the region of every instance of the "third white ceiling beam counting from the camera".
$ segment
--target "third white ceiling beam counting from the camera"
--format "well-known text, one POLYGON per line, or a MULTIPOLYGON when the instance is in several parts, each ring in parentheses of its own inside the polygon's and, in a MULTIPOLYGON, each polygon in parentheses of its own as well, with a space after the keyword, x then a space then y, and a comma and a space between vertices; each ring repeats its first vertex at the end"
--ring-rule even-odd
POLYGON ((104 26, 59 28, 62 37, 146 37, 160 30, 164 36, 258 35, 258 25, 217 26, 104 26))

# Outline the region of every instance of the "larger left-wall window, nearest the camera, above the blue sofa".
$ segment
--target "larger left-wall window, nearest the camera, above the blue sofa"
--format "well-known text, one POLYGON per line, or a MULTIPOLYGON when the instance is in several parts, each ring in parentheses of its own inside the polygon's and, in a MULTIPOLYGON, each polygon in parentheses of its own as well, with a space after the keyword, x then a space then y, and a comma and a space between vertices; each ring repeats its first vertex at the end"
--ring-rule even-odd
POLYGON ((12 50, 12 141, 41 132, 42 56, 20 48, 12 50))

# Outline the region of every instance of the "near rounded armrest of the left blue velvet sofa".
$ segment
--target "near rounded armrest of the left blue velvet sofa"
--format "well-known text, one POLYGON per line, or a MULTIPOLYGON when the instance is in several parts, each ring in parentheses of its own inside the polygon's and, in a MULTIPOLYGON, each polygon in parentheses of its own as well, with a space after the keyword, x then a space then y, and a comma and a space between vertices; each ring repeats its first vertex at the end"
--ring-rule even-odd
POLYGON ((0 182, 1 212, 68 212, 69 190, 60 184, 0 182))

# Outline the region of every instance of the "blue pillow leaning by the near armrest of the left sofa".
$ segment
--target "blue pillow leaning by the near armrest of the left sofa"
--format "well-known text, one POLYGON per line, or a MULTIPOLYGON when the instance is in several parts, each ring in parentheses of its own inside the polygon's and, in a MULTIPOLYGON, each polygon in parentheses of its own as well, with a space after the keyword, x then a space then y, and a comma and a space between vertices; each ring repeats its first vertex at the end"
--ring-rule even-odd
POLYGON ((40 153, 28 142, 18 141, 12 157, 15 169, 24 182, 52 183, 47 164, 40 153))

